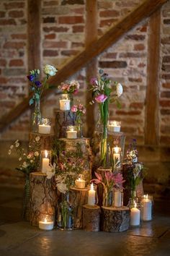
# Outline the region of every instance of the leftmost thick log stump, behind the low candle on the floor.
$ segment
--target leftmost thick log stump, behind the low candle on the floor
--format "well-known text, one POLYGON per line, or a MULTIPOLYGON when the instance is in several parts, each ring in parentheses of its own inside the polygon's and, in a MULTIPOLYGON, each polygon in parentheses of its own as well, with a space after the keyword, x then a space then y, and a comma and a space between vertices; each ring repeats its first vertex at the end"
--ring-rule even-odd
POLYGON ((32 226, 38 226, 41 209, 45 202, 49 203, 50 213, 52 211, 55 216, 57 196, 54 179, 47 179, 47 175, 40 172, 32 172, 30 174, 30 223, 32 226))

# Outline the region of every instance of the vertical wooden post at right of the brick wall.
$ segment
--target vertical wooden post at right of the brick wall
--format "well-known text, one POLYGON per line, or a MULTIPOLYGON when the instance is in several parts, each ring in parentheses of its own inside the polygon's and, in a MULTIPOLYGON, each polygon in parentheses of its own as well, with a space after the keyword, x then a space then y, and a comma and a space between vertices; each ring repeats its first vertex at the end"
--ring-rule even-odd
POLYGON ((146 88, 146 145, 158 144, 158 69, 160 51, 160 10, 149 20, 148 36, 148 81, 146 88))

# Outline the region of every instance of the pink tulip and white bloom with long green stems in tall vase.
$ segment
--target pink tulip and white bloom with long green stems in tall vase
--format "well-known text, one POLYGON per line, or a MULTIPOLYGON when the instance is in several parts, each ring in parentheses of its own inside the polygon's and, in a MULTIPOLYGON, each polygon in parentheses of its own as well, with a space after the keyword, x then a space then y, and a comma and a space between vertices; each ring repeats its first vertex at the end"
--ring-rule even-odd
MULTIPOLYGON (((106 166, 107 158, 107 123, 109 118, 109 103, 120 103, 117 98, 122 95, 122 85, 119 82, 112 82, 109 80, 108 74, 105 74, 102 69, 99 70, 97 78, 91 78, 91 89, 94 96, 94 101, 99 103, 99 111, 102 121, 102 141, 100 148, 100 160, 103 167, 106 166)), ((91 103, 94 103, 92 101, 91 103)))

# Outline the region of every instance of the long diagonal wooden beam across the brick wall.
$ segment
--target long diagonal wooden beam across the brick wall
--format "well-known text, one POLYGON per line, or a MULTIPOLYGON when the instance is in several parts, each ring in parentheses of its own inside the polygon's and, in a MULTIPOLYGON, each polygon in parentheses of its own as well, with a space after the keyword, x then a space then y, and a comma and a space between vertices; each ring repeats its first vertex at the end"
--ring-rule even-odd
MULTIPOLYGON (((75 56, 66 66, 61 69, 55 77, 51 77, 50 84, 60 84, 71 75, 75 74, 79 69, 84 67, 91 59, 98 56, 105 49, 117 42, 122 35, 128 32, 138 22, 153 14, 156 9, 160 8, 167 0, 146 0, 140 4, 139 7, 133 9, 130 14, 127 14, 117 24, 113 25, 107 33, 102 35, 101 38, 95 40, 91 45, 87 46, 84 51, 75 56)), ((55 90, 55 89, 54 89, 55 90)), ((53 90, 48 90, 42 95, 43 98, 53 93, 53 90)), ((0 131, 2 131, 8 124, 22 114, 29 108, 29 97, 25 98, 22 103, 19 103, 9 114, 0 119, 0 131)))

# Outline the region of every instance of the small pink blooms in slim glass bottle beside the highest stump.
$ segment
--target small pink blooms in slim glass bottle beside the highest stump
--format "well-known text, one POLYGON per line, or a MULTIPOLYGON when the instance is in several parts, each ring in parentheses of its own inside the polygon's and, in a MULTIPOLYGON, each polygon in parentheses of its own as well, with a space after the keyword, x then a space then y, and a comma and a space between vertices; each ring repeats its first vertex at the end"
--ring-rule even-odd
POLYGON ((75 124, 78 130, 78 137, 83 137, 82 135, 82 120, 81 117, 86 114, 86 108, 81 104, 73 105, 71 111, 76 114, 75 124))

